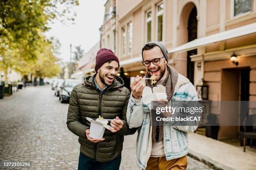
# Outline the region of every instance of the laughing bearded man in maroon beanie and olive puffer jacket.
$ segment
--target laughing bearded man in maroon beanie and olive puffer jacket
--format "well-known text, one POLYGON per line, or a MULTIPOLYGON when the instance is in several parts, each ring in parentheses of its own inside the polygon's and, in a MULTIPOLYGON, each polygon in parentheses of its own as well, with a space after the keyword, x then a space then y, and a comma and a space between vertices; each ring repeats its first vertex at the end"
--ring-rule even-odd
POLYGON ((85 78, 71 92, 67 115, 67 127, 79 136, 80 155, 78 170, 119 170, 123 135, 131 135, 126 110, 130 98, 129 90, 117 75, 119 60, 108 49, 97 52, 95 75, 85 78), (86 117, 113 119, 111 129, 105 130, 103 138, 90 138, 90 122, 86 117))

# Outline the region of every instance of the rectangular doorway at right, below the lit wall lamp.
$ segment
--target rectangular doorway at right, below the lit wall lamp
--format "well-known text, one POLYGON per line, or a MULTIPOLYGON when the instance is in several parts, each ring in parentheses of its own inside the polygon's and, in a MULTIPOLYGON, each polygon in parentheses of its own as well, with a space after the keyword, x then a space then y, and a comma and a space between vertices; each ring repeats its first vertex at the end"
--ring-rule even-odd
MULTIPOLYGON (((236 139, 236 141, 238 138, 243 138, 243 121, 248 114, 248 102, 246 101, 249 100, 250 70, 250 67, 222 70, 221 101, 243 102, 232 108, 221 108, 220 117, 228 116, 230 120, 236 121, 238 126, 221 126, 220 138, 236 139)), ((240 144, 242 142, 240 140, 240 144)))

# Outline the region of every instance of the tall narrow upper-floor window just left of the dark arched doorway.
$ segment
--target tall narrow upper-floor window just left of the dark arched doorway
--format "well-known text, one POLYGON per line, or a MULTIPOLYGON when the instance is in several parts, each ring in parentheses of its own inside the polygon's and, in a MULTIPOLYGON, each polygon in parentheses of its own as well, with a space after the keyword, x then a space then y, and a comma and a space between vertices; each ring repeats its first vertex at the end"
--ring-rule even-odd
POLYGON ((163 10, 164 10, 164 4, 163 2, 161 2, 156 7, 157 41, 162 41, 162 38, 163 38, 163 10))

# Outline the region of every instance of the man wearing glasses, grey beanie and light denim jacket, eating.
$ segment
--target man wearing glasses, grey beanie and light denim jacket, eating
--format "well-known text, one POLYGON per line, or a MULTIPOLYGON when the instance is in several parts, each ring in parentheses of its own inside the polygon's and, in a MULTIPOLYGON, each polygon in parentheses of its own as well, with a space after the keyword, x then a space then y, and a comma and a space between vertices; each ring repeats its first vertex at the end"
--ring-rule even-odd
POLYGON ((163 126, 152 126, 151 111, 142 102, 145 86, 166 87, 167 99, 197 101, 195 87, 183 75, 168 65, 168 52, 160 42, 148 42, 142 48, 142 64, 146 69, 145 77, 136 76, 131 84, 132 95, 127 107, 129 128, 138 128, 137 164, 143 170, 185 170, 187 168, 188 138, 187 132, 193 132, 197 126, 173 126, 164 122, 163 126), (156 83, 145 79, 156 76, 156 83))

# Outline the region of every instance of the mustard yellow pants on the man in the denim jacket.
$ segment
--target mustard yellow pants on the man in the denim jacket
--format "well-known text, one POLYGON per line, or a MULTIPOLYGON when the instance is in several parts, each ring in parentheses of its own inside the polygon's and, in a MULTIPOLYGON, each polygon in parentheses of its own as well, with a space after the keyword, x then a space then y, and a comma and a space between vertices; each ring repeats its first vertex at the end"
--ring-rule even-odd
POLYGON ((150 157, 147 163, 146 170, 186 170, 187 156, 174 160, 166 160, 164 157, 150 157))

